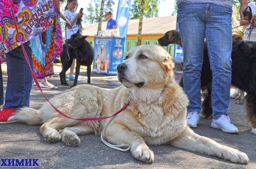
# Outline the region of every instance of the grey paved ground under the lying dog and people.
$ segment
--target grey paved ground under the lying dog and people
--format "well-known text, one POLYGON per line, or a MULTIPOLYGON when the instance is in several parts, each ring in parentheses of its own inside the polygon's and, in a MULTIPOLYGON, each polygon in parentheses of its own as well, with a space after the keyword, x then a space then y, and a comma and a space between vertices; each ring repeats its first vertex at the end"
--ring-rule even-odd
MULTIPOLYGON (((54 69, 58 75, 60 65, 55 65, 54 69)), ((80 78, 86 78, 86 71, 83 69, 80 78)), ((118 84, 115 76, 93 74, 92 79, 92 85, 100 87, 114 88, 118 84)), ((51 98, 68 89, 67 86, 60 85, 57 76, 52 76, 49 81, 57 85, 59 89, 44 89, 47 97, 51 98)), ((79 82, 79 84, 84 83, 86 81, 79 82)), ((5 70, 4 85, 6 87, 5 70)), ((38 108, 43 103, 45 99, 33 86, 31 107, 38 108)), ((67 147, 61 142, 46 143, 39 133, 40 126, 28 126, 21 123, 0 125, 0 159, 38 158, 40 168, 256 168, 256 136, 250 133, 250 125, 246 123, 245 106, 235 104, 234 100, 231 100, 228 114, 239 128, 239 134, 227 134, 212 129, 209 127, 211 124, 209 119, 201 119, 198 128, 194 131, 218 143, 244 151, 251 160, 248 165, 229 163, 216 157, 168 145, 150 146, 155 152, 155 162, 145 164, 134 160, 130 153, 123 153, 105 146, 101 143, 100 137, 94 134, 80 136, 80 147, 67 147)))

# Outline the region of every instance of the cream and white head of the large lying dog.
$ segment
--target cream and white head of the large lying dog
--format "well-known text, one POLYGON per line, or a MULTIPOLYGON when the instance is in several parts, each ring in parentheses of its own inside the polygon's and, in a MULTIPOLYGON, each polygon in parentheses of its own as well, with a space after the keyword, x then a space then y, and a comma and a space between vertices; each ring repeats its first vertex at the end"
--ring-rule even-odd
POLYGON ((133 48, 117 66, 120 82, 128 88, 162 89, 173 80, 173 62, 169 53, 157 45, 133 48))

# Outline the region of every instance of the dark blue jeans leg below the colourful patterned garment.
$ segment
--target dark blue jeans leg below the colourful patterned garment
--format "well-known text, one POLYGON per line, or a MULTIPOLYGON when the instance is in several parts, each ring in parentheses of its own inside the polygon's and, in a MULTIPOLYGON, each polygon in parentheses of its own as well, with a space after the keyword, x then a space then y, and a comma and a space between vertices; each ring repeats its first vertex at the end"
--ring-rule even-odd
MULTIPOLYGON (((29 42, 24 43, 24 47, 32 67, 32 50, 29 47, 29 42)), ((19 107, 29 106, 32 75, 21 46, 6 54, 6 62, 8 79, 4 108, 18 109, 19 107)))

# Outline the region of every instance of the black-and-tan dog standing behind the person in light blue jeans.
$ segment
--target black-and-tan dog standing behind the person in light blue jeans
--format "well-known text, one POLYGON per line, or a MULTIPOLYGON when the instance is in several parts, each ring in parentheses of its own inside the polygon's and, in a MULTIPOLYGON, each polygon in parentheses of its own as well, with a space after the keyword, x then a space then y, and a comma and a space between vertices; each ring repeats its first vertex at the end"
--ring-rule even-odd
MULTIPOLYGON (((251 123, 251 133, 256 134, 256 43, 239 42, 238 37, 233 36, 232 59, 232 85, 247 93, 247 118, 251 123), (238 40, 238 42, 236 41, 238 40)), ((172 30, 165 33, 159 39, 159 44, 167 46, 170 43, 181 45, 179 32, 172 30)), ((201 71, 201 89, 203 91, 204 102, 202 103, 202 116, 208 118, 212 115, 211 107, 211 82, 212 73, 210 69, 208 50, 205 45, 204 61, 201 71)), ((228 89, 227 89, 228 90, 228 89)), ((239 103, 243 103, 244 94, 240 94, 239 103)))

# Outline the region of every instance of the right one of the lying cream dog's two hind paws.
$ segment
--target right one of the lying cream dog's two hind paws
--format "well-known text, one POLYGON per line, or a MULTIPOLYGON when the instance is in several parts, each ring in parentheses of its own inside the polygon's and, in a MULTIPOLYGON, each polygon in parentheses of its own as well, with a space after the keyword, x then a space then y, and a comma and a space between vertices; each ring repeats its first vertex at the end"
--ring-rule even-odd
POLYGON ((67 146, 79 146, 81 141, 76 133, 70 130, 60 130, 61 141, 63 141, 67 146))

